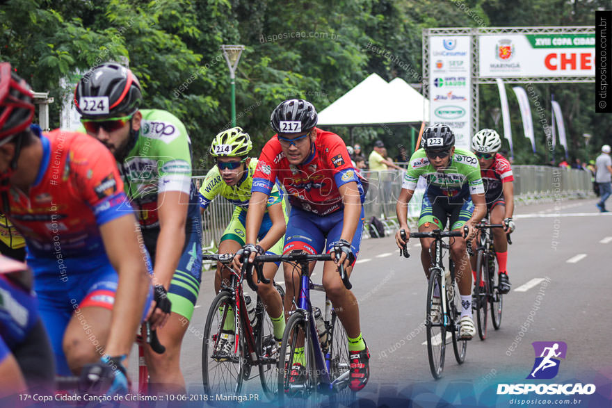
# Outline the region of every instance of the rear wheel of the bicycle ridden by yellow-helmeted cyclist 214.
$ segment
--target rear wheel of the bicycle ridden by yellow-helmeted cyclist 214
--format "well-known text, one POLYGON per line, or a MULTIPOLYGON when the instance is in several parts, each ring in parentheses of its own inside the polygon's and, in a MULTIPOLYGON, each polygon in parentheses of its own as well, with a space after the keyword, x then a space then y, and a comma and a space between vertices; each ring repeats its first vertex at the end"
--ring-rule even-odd
MULTIPOLYGON (((280 286, 275 286, 280 293, 281 304, 284 299, 284 291, 280 286)), ((278 393, 278 352, 279 346, 274 340, 274 327, 270 316, 266 313, 264 304, 257 297, 257 325, 255 326, 255 340, 259 351, 259 379, 261 388, 264 389, 266 397, 274 400, 278 393)))

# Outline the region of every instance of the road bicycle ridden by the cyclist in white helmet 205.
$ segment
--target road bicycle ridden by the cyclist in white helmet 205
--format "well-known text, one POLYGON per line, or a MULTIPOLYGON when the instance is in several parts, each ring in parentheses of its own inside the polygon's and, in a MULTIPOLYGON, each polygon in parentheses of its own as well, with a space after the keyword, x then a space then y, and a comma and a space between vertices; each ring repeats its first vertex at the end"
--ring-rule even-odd
MULTIPOLYGON (((504 228, 502 224, 488 224, 484 220, 474 225, 480 233, 478 234, 476 247, 476 281, 474 282, 474 310, 476 311, 476 322, 478 325, 478 337, 481 340, 487 338, 487 315, 490 306, 491 320, 494 329, 501 326, 501 310, 504 299, 499 292, 499 274, 497 273, 497 261, 495 261, 495 249, 493 246, 493 228, 504 228)), ((511 244, 510 234, 506 234, 508 243, 511 244)))

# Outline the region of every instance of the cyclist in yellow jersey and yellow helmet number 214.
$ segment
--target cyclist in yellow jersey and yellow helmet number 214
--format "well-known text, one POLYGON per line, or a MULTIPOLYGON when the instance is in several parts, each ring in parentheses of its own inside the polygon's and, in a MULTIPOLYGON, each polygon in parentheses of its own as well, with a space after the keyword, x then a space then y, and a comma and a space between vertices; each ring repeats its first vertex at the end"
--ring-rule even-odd
MULTIPOLYGON (((251 197, 253 174, 257 168, 257 158, 248 157, 251 149, 250 136, 239 127, 220 132, 211 144, 210 154, 215 158, 216 166, 208 172, 200 187, 200 208, 204 211, 218 195, 225 197, 236 206, 232 220, 221 236, 219 254, 240 253, 245 245, 246 213, 251 197)), ((266 204, 264 222, 257 234, 259 244, 252 249, 268 254, 282 254, 286 228, 287 210, 282 199, 282 190, 274 186, 266 204)), ((236 256, 236 261, 238 258, 239 256, 236 256)), ((236 262, 236 268, 240 266, 239 262, 236 262)), ((259 283, 257 294, 266 305, 266 312, 272 320, 275 340, 280 343, 285 322, 280 293, 272 285, 277 269, 278 265, 266 263, 264 275, 270 279, 270 283, 259 283)), ((218 263, 215 293, 220 291, 222 280, 229 284, 229 273, 225 272, 226 275, 221 276, 221 270, 223 268, 218 263)), ((229 313, 231 316, 225 319, 225 327, 217 345, 218 350, 215 352, 218 359, 227 358, 230 350, 234 350, 234 311, 230 309, 229 313)))

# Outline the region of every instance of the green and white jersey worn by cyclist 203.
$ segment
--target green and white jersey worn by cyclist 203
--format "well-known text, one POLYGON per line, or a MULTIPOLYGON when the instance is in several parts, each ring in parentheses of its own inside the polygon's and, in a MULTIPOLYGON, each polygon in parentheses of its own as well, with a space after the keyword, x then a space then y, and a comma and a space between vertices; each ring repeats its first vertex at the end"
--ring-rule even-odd
POLYGON ((410 158, 402 188, 414 190, 419 177, 427 182, 426 194, 449 199, 464 199, 472 194, 485 193, 481 168, 472 152, 455 149, 451 162, 444 170, 435 170, 429 163, 424 149, 419 149, 410 158))

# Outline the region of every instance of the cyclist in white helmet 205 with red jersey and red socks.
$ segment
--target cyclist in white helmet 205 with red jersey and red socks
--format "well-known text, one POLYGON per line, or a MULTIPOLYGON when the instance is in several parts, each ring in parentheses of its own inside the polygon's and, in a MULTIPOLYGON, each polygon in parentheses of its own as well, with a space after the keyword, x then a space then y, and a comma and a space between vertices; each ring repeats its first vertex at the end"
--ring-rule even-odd
MULTIPOLYGON (((508 279, 508 240, 504 234, 515 229, 512 220, 514 212, 514 177, 510 162, 497 153, 501 138, 493 129, 482 129, 472 138, 472 150, 481 165, 481 176, 485 186, 485 198, 491 224, 503 224, 504 230, 493 229, 493 245, 499 266, 499 292, 510 291, 508 279), (502 222, 503 221, 503 222, 502 222)), ((476 257, 472 259, 472 275, 476 279, 476 257)), ((484 283, 483 283, 484 284, 484 283)))

